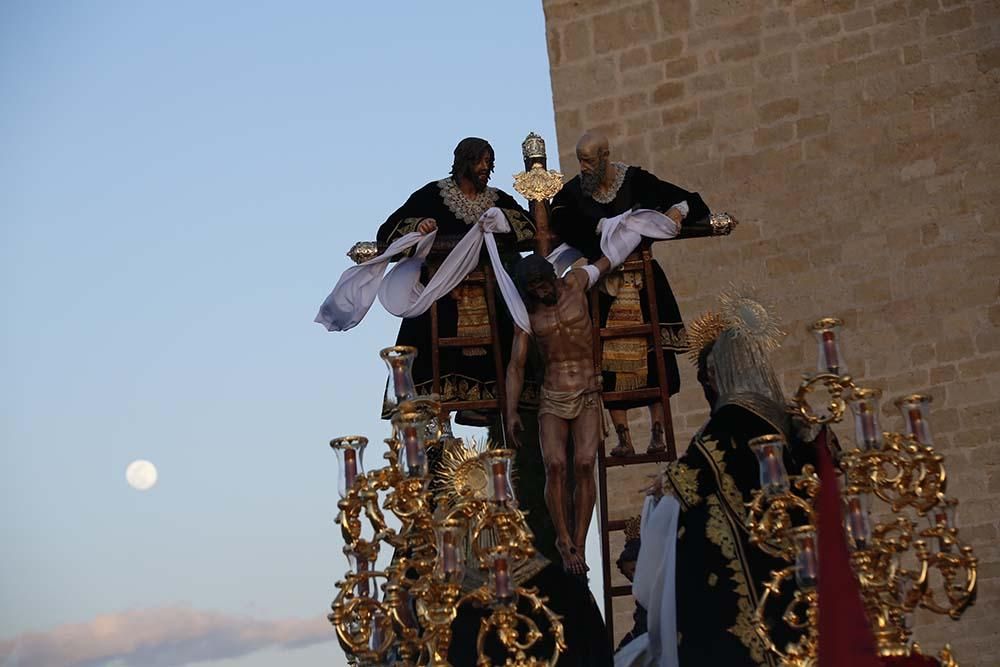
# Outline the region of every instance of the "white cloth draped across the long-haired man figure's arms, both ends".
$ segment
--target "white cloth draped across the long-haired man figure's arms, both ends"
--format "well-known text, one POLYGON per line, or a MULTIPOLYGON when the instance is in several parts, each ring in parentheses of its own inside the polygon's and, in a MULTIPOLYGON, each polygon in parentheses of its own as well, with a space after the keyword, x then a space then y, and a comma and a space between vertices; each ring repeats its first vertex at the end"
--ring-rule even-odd
POLYGON ((495 232, 509 231, 510 223, 503 212, 496 207, 488 209, 448 253, 427 285, 420 283, 420 269, 430 253, 437 232, 427 235, 417 232, 405 234, 378 257, 344 271, 333 291, 320 306, 315 321, 328 331, 347 331, 361 322, 375 301, 376 294, 385 309, 393 315, 422 315, 431 304, 451 292, 476 268, 479 251, 485 242, 500 293, 507 302, 511 316, 519 327, 530 332, 528 311, 517 294, 514 282, 500 262, 500 253, 493 238, 495 232), (401 260, 383 278, 389 261, 413 246, 416 246, 413 256, 401 260))

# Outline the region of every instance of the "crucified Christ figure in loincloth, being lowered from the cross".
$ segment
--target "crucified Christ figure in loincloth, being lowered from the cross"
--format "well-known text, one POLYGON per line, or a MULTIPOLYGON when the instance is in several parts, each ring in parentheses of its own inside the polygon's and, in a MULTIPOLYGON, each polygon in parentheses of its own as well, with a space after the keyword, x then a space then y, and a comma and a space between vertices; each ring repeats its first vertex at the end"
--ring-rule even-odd
MULTIPOLYGON (((545 462, 545 504, 556 530, 556 549, 567 572, 584 575, 584 545, 597 496, 594 465, 601 445, 601 376, 594 365, 594 327, 587 290, 611 268, 601 257, 563 278, 541 255, 529 255, 514 269, 514 282, 528 310, 531 329, 545 366, 538 407, 539 439, 545 462), (574 455, 572 529, 567 519, 567 438, 572 431, 574 455)), ((530 338, 518 329, 507 366, 506 422, 508 441, 520 446, 517 413, 524 384, 530 338)))

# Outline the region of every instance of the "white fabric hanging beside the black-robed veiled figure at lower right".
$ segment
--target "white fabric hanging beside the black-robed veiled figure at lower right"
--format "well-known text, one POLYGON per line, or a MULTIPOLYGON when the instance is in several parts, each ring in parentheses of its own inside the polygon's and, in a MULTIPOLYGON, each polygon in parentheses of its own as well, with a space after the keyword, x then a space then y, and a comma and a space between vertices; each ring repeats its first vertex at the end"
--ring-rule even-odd
POLYGON ((615 654, 615 667, 679 667, 677 655, 677 521, 680 503, 647 496, 632 595, 646 609, 647 629, 615 654))

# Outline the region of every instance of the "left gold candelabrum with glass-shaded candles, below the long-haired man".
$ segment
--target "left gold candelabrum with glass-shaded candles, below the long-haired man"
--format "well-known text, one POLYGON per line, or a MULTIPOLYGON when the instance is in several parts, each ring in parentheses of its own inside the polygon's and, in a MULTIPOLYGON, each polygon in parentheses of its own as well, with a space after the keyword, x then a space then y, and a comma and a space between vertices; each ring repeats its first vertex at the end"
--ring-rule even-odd
MULTIPOLYGON (((471 605, 489 612, 476 640, 480 667, 492 664, 491 636, 509 667, 555 665, 566 648, 560 618, 537 590, 514 580, 535 548, 511 484, 513 452, 483 451, 472 461, 472 477, 482 484, 435 494, 427 452, 454 440, 450 422, 440 417, 434 397, 417 397, 410 373, 415 348, 390 347, 380 354, 390 370, 387 401, 393 408, 387 465, 364 470, 367 438, 330 442, 340 473, 337 523, 349 563, 328 616, 341 647, 365 667, 447 666, 452 622, 460 607, 471 605), (390 526, 387 513, 398 528, 390 526), (363 530, 362 519, 370 530, 363 530), (378 569, 383 546, 392 550, 392 559, 378 569), (552 643, 551 655, 531 657, 543 637, 552 643)), ((469 458, 469 450, 462 451, 469 458)))

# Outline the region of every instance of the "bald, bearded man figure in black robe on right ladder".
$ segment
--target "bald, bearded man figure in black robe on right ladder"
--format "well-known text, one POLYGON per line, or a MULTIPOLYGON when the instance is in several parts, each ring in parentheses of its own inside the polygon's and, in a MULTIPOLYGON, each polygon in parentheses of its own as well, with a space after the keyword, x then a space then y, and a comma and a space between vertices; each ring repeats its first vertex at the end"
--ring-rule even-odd
MULTIPOLYGON (((570 180, 552 200, 552 228, 560 239, 583 253, 590 261, 602 255, 597 223, 633 208, 648 208, 666 213, 685 226, 701 222, 710 212, 696 192, 661 181, 639 167, 610 161, 606 137, 589 132, 576 148, 580 175, 570 180), (687 202, 682 215, 676 205, 687 202)), ((683 229, 683 227, 682 227, 683 229)), ((683 232, 682 232, 683 235, 683 232)), ((645 278, 641 271, 612 274, 601 292, 601 327, 631 326, 649 322, 645 278)), ((664 352, 666 381, 670 393, 680 389, 680 375, 674 357, 685 349, 684 322, 677 300, 659 264, 653 264, 659 314, 660 344, 664 352)), ((603 343, 602 379, 605 392, 628 391, 660 386, 655 357, 645 336, 609 339, 603 343)), ((663 406, 659 397, 605 401, 618 435, 612 455, 634 452, 628 430, 627 410, 649 406, 651 438, 647 451, 665 449, 663 406)))

